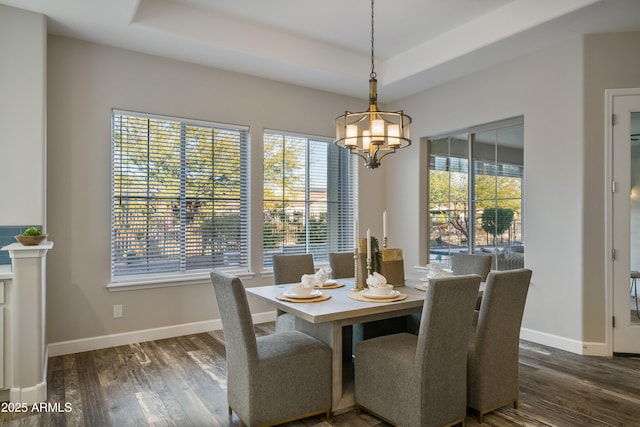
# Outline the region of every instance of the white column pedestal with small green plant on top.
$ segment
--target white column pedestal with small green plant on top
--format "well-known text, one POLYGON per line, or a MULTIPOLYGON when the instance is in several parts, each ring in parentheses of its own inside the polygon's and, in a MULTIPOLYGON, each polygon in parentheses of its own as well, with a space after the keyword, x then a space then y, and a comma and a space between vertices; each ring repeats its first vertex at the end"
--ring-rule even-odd
POLYGON ((47 400, 46 379, 46 254, 53 242, 35 246, 13 243, 9 251, 13 271, 10 301, 13 383, 11 402, 47 400))

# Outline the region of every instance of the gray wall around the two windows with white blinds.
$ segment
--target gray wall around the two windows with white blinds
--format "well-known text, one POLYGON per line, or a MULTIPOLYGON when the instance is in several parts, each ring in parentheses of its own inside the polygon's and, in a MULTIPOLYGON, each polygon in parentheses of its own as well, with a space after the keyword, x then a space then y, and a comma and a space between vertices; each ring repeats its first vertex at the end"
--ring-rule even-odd
MULTIPOLYGON (((73 39, 50 37, 48 53, 48 219, 55 241, 47 271, 50 343, 219 317, 208 280, 107 290, 112 108, 250 126, 251 200, 260 201, 263 129, 331 137, 335 116, 366 106, 353 98, 73 39), (112 318, 114 304, 123 305, 123 318, 112 318)), ((383 182, 377 171, 367 176, 367 185, 383 182)), ((360 193, 361 206, 367 207, 362 229, 381 229, 384 199, 360 193)), ((251 214, 262 217, 261 203, 251 204, 251 214)), ((245 283, 272 283, 261 271, 260 220, 253 221, 251 235, 252 274, 245 283)), ((255 307, 267 310, 272 309, 255 307)))

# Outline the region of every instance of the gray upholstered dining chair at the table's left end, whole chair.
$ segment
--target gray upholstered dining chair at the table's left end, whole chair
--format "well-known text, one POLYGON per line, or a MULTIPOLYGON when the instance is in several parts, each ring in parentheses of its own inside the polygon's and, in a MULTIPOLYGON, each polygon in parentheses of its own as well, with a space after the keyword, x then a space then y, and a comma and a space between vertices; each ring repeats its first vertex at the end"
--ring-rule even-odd
POLYGON ((249 427, 276 425, 331 410, 331 349, 302 332, 256 337, 242 281, 214 270, 222 320, 229 415, 249 427))

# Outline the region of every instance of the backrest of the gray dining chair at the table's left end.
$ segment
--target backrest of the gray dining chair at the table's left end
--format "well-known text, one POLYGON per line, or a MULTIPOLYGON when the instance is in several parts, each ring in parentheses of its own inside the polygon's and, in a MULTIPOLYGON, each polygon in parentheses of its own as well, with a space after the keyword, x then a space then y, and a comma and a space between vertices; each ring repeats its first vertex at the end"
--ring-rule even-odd
POLYGON ((258 360, 258 347, 247 293, 242 281, 223 271, 211 272, 225 337, 229 377, 240 376, 258 360))

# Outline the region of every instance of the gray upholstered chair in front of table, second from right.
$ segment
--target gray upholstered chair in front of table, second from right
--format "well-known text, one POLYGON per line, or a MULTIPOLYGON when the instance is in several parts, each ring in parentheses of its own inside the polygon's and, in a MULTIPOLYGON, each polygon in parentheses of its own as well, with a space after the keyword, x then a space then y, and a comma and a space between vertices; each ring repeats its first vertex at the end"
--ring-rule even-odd
POLYGON ((417 336, 358 343, 356 406, 403 427, 464 423, 467 346, 479 286, 476 275, 434 279, 417 336))

